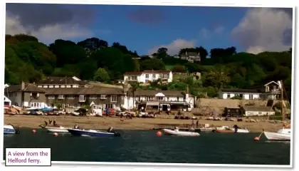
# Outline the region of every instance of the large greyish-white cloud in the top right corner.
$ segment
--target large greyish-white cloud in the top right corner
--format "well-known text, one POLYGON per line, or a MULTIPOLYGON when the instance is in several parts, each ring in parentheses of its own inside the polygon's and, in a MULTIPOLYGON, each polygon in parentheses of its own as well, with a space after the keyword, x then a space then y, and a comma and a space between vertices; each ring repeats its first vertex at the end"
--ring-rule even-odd
POLYGON ((233 29, 232 36, 248 53, 285 51, 290 48, 292 19, 286 11, 278 9, 249 9, 246 16, 233 29), (288 44, 285 42, 288 36, 288 44))

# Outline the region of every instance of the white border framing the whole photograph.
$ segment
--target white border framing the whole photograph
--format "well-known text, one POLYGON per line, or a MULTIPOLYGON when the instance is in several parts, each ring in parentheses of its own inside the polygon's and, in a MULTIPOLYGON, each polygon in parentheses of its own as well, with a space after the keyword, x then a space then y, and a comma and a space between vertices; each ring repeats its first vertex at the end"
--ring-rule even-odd
MULTIPOLYGON (((295 11, 295 4, 298 2, 297 1, 262 1, 262 0, 251 0, 251 1, 246 1, 246 0, 243 0, 243 1, 238 1, 238 0, 201 0, 201 2, 197 2, 196 0, 194 1, 191 1, 191 0, 188 0, 188 1, 175 1, 175 0, 165 0, 163 2, 160 2, 158 0, 152 0, 152 1, 146 1, 146 0, 139 0, 139 1, 130 1, 130 0, 122 0, 122 1, 109 1, 109 0, 98 0, 98 1, 95 1, 95 0, 86 0, 86 1, 72 1, 72 0, 52 0, 52 1, 49 1, 49 0, 43 0, 43 1, 37 1, 37 0, 25 0, 25 1, 16 1, 16 0, 5 0, 5 1, 2 1, 1 2, 1 24, 2 25, 2 41, 0 41, 1 43, 1 46, 0 46, 0 51, 1 51, 1 62, 0 62, 0 68, 1 71, 0 71, 0 82, 1 82, 1 85, 0 85, 0 88, 1 88, 1 91, 0 93, 4 94, 4 68, 5 68, 5 63, 4 63, 4 53, 5 53, 5 20, 6 20, 6 6, 5 6, 5 3, 8 2, 8 3, 39 3, 39 4, 127 4, 127 5, 163 5, 163 6, 247 6, 247 7, 279 7, 279 8, 283 8, 283 7, 289 7, 289 8, 293 8, 293 44, 292 44, 292 49, 293 49, 293 58, 292 58, 292 93, 291 93, 291 97, 292 97, 292 103, 291 103, 291 128, 292 128, 292 135, 291 135, 291 145, 290 145, 290 166, 288 165, 220 165, 220 164, 177 164, 177 163, 130 163, 130 162, 52 162, 54 165, 52 165, 52 167, 54 167, 55 165, 57 165, 58 167, 59 166, 75 166, 76 169, 82 169, 82 167, 93 167, 93 169, 98 169, 98 168, 104 168, 105 169, 117 169, 117 167, 125 167, 125 168, 121 168, 121 169, 130 169, 132 170, 132 168, 135 168, 136 166, 159 166, 159 169, 172 169, 172 170, 180 170, 180 169, 196 169, 196 170, 232 170, 232 169, 237 169, 237 168, 240 168, 243 170, 245 169, 245 167, 251 167, 251 168, 248 168, 250 170, 261 170, 261 168, 264 168, 264 167, 270 167, 271 170, 276 170, 275 168, 276 167, 292 167, 294 166, 293 164, 295 164, 295 146, 294 146, 294 143, 295 142, 295 138, 298 136, 298 135, 294 135, 295 134, 295 123, 298 124, 298 119, 295 117, 294 113, 296 113, 296 108, 295 108, 295 101, 296 99, 298 98, 298 95, 296 94, 295 92, 295 85, 297 84, 297 81, 298 81, 298 76, 295 77, 295 68, 298 67, 298 63, 297 63, 297 60, 295 60, 295 53, 296 53, 296 56, 298 56, 298 51, 297 51, 297 48, 298 48, 298 43, 295 43, 295 40, 298 40, 298 33, 297 35, 295 34, 295 29, 297 28, 298 29, 298 22, 296 22, 298 20, 296 16, 298 16, 298 12, 295 11), (296 26, 295 26, 296 24, 296 26), (295 36, 296 36, 296 39, 295 39, 295 36), (295 46, 297 48, 295 48, 295 46), (297 67, 295 67, 295 65, 297 67), (295 83, 296 82, 296 83, 295 83), (294 121, 295 120, 295 121, 294 121), (58 165, 60 164, 60 165, 58 165), (87 166, 88 165, 88 166, 87 166), (113 166, 112 166, 113 165, 113 166), (115 167, 115 165, 117 165, 115 167), (126 165, 126 166, 125 166, 126 165), (132 168, 128 168, 129 166, 132 166, 132 168), (162 166, 175 166, 175 167, 167 167, 167 168, 163 168, 162 166), (182 168, 180 168, 180 167, 182 168), (199 168, 200 166, 200 168, 199 168), (206 167, 206 166, 209 166, 209 167, 206 167), (108 168, 107 168, 108 167, 108 168), (112 168, 111 168, 112 167, 112 168), (216 167, 216 168, 210 168, 210 167, 216 167), (234 168, 235 167, 235 168, 234 168)), ((4 98, 0 98, 0 103, 4 104, 4 98)), ((2 111, 4 111, 4 105, 0 105, 0 109, 2 111)), ((3 125, 4 125, 4 115, 0 115, 0 130, 1 130, 1 135, 3 135, 3 125)), ((3 154, 4 152, 4 137, 3 136, 0 136, 0 144, 1 144, 1 149, 0 149, 0 153, 3 154)), ((298 153, 298 152, 297 152, 298 153)), ((3 157, 3 155, 2 155, 3 157)), ((1 167, 3 166, 4 164, 4 161, 3 161, 3 158, 2 158, 2 163, 1 163, 1 167)), ((39 167, 26 167, 26 168, 29 168, 29 169, 37 169, 39 167)), ((46 167, 45 167, 46 168, 46 167)), ((140 169, 144 169, 144 167, 139 167, 140 169)), ((147 170, 154 170, 154 168, 151 168, 151 167, 146 167, 147 170)), ((5 169, 11 169, 11 170, 15 170, 16 168, 15 167, 7 167, 5 169)), ((47 170, 48 168, 46 168, 47 170)), ((50 170, 51 168, 49 168, 50 170)), ((73 167, 72 167, 73 169, 73 167)), ((92 169, 92 168, 88 168, 88 169, 92 169)), ((246 169, 247 170, 247 169, 246 169)))

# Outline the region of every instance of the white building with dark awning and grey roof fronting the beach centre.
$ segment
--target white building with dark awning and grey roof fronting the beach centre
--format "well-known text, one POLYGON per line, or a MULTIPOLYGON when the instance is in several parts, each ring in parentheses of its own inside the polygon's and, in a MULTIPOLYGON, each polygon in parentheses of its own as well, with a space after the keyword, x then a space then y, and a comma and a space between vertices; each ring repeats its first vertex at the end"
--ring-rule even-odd
POLYGON ((194 108, 195 97, 180 90, 142 90, 127 92, 123 108, 138 108, 139 105, 159 106, 161 110, 178 110, 179 108, 194 108), (133 95, 134 94, 134 95, 133 95))

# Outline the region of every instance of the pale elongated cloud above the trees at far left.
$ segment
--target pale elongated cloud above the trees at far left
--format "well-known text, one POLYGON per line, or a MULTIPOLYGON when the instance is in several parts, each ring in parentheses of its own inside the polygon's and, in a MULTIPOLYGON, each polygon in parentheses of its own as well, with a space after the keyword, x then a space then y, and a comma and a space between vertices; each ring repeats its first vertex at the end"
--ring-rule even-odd
POLYGON ((78 24, 46 25, 34 30, 32 27, 22 26, 19 16, 6 13, 6 34, 30 33, 43 43, 53 43, 56 39, 88 38, 93 32, 78 24))

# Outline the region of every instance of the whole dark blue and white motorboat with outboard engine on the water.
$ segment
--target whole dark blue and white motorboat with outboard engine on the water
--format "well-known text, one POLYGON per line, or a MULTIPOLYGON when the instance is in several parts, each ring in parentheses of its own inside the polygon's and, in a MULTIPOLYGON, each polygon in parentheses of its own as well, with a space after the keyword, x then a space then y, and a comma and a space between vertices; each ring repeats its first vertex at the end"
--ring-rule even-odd
POLYGON ((120 133, 116 133, 112 127, 108 128, 107 132, 100 130, 84 130, 80 128, 67 129, 69 133, 76 136, 88 137, 120 137, 120 133))

